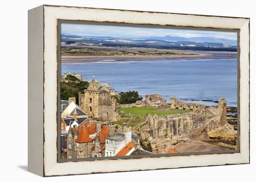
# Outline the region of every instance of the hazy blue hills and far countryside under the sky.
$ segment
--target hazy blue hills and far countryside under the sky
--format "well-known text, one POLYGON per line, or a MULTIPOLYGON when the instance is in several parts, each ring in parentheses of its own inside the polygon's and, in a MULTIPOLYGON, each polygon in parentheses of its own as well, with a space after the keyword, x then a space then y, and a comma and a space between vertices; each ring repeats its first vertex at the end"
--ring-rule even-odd
POLYGON ((157 49, 180 49, 180 50, 220 50, 236 51, 237 43, 234 40, 214 37, 104 37, 104 36, 81 36, 68 33, 61 34, 62 44, 105 46, 105 47, 147 47, 157 49))

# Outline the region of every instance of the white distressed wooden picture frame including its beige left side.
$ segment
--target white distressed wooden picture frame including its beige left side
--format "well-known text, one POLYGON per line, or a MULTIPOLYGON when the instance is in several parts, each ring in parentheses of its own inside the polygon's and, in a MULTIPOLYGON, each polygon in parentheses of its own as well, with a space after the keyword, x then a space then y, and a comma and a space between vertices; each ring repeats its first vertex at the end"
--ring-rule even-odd
POLYGON ((28 170, 39 176, 249 163, 249 19, 43 5, 28 11, 28 170), (239 149, 90 161, 58 160, 58 21, 228 29, 239 32, 239 149))

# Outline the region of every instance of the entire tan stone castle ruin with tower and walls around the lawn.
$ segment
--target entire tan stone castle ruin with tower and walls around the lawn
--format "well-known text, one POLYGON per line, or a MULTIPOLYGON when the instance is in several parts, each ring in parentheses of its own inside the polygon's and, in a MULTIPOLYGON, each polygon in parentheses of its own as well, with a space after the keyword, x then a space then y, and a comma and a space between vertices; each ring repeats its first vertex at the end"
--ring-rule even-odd
POLYGON ((187 103, 170 98, 171 104, 160 94, 146 95, 145 100, 138 100, 132 104, 118 104, 112 97, 110 84, 96 80, 89 82, 88 89, 79 93, 79 106, 91 119, 103 122, 114 122, 120 119, 118 108, 122 107, 155 107, 160 110, 182 109, 192 112, 171 115, 147 115, 146 124, 140 127, 141 138, 153 139, 168 137, 184 137, 189 133, 206 127, 208 131, 224 126, 226 121, 227 104, 224 98, 219 100, 217 107, 206 107, 203 104, 187 103))

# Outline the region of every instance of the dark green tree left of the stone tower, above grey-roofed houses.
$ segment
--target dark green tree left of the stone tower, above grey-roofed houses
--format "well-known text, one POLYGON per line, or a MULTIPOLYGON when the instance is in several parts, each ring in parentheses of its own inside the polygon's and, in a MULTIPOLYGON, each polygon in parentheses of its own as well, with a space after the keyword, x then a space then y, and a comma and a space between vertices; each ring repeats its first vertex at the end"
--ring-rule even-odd
POLYGON ((78 103, 79 92, 84 93, 89 83, 76 78, 73 75, 67 75, 65 81, 61 82, 61 100, 68 100, 69 97, 75 97, 78 103))

